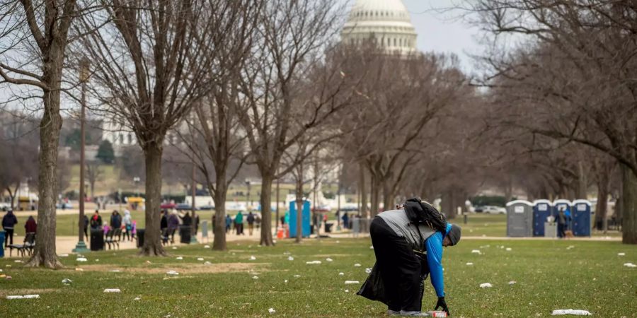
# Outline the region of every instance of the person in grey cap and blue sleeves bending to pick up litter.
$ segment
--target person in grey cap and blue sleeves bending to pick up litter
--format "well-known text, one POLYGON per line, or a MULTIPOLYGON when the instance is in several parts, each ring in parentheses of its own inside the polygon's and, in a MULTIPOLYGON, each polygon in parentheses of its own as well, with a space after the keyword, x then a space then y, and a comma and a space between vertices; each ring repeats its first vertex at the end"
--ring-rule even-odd
POLYGON ((427 275, 431 276, 438 297, 435 310, 442 308, 449 314, 444 300, 442 247, 457 245, 460 232, 461 228, 451 223, 447 223, 444 232, 415 225, 404 209, 384 211, 374 217, 369 234, 389 315, 426 315, 421 309, 427 275))

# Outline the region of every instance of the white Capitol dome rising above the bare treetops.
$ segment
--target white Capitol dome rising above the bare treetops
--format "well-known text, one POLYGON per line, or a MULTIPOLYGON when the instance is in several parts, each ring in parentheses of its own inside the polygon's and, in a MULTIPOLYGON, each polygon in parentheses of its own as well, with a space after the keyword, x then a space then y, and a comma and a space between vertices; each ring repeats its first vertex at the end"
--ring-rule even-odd
POLYGON ((340 33, 341 41, 357 45, 373 39, 388 52, 416 52, 415 29, 401 0, 356 0, 340 33))

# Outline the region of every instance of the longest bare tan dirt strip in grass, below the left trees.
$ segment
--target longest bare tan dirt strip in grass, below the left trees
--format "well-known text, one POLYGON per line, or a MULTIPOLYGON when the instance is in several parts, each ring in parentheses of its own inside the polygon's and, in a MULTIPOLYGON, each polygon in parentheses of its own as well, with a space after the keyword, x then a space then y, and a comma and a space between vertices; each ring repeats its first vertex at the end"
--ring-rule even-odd
POLYGON ((86 265, 80 266, 84 271, 109 272, 119 270, 121 273, 166 273, 177 271, 180 274, 188 273, 230 273, 238 271, 263 271, 270 263, 218 263, 218 264, 144 264, 137 267, 117 267, 113 265, 86 265))

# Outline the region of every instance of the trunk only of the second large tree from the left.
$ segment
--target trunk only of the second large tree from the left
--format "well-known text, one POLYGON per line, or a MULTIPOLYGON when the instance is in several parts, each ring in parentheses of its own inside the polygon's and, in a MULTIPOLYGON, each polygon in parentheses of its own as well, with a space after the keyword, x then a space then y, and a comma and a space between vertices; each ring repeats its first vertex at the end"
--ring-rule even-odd
POLYGON ((144 232, 144 246, 139 254, 145 256, 165 256, 161 246, 161 232, 159 229, 159 211, 161 204, 161 141, 150 141, 144 145, 146 157, 146 231, 144 232))

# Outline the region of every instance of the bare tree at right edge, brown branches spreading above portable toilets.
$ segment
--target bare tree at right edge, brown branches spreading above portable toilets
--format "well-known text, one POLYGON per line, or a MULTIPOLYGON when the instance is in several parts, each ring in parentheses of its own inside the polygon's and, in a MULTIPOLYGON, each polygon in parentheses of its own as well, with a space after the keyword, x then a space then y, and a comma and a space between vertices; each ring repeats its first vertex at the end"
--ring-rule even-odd
POLYGON ((483 61, 485 85, 532 120, 533 134, 597 149, 619 162, 625 244, 637 244, 637 8, 630 1, 481 0, 468 2, 494 35, 483 61), (516 34, 531 46, 503 54, 498 39, 516 34))

